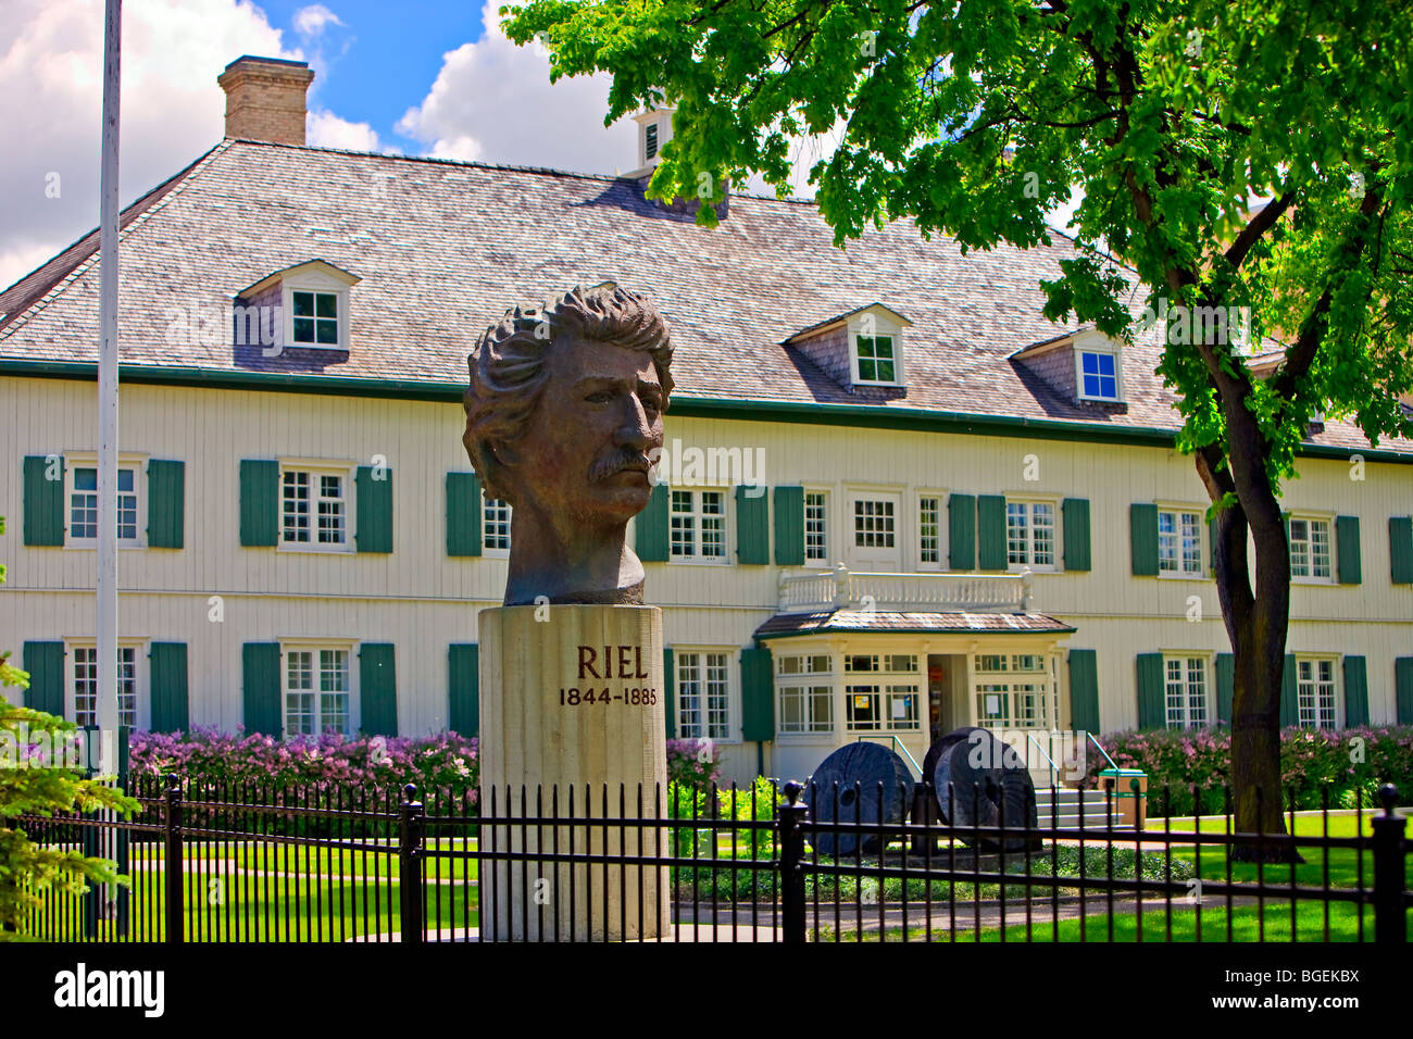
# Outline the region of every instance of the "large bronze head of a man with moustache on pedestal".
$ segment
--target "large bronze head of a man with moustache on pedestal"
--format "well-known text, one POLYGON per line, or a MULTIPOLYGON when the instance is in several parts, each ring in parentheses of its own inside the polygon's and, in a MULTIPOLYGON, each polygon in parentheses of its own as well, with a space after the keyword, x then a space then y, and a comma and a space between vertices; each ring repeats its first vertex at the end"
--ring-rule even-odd
POLYGON ((625 543, 663 448, 673 346, 661 314, 613 283, 506 311, 468 358, 462 442, 510 503, 504 605, 642 605, 625 543))

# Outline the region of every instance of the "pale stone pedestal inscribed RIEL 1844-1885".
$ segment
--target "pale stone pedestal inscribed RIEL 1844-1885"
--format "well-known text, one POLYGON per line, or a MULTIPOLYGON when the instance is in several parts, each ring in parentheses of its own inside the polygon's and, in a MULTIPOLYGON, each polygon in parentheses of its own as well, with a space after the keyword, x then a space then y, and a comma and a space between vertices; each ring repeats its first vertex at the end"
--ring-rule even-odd
MULTIPOLYGON (((657 606, 482 611, 480 811, 527 820, 482 826, 482 852, 670 854, 666 828, 613 821, 667 814, 667 690, 657 606)), ((657 939, 670 903, 663 867, 482 861, 482 940, 657 939)))

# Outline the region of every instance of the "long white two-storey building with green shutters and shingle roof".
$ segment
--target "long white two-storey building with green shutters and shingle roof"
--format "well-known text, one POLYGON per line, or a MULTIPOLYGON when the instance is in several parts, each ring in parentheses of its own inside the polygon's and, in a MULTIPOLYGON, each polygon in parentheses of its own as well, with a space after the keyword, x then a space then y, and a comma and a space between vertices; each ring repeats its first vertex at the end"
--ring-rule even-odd
MULTIPOLYGON (((305 147, 307 69, 233 72, 227 137, 123 216, 127 721, 472 729, 509 515, 461 445, 466 355, 507 305, 606 280, 673 328, 668 485, 633 536, 673 734, 716 741, 728 777, 804 776, 861 736, 920 762, 962 724, 1229 717, 1156 338, 1041 317, 1063 235, 964 256, 899 221, 839 250, 812 205, 750 196, 708 230, 646 201, 644 170, 305 147)), ((640 120, 644 168, 663 122, 640 120)), ((0 294, 0 630, 27 701, 78 720, 97 266, 95 232, 0 294)), ((1307 438, 1287 724, 1413 722, 1410 464, 1340 421, 1307 438)))

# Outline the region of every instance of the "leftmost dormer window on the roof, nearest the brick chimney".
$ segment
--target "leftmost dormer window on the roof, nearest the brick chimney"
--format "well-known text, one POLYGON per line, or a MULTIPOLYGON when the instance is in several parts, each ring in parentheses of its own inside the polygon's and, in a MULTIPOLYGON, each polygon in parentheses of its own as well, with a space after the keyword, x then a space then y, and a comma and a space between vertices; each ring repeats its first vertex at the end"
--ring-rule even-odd
POLYGON ((283 349, 349 349, 349 298, 359 281, 326 260, 263 277, 236 295, 236 346, 259 344, 266 356, 283 349))

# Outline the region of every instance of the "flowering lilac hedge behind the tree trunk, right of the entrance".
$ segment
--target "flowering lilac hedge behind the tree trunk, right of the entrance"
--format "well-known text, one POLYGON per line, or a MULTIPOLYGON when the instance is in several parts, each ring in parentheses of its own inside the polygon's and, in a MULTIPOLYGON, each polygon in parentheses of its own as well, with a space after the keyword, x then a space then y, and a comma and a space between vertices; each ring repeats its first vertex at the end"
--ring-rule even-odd
MULTIPOLYGON (((1143 769, 1149 776, 1149 814, 1163 814, 1163 787, 1171 813, 1190 814, 1197 786, 1204 813, 1224 810, 1231 783, 1231 729, 1157 729, 1111 732, 1099 742, 1121 769, 1143 769)), ((1095 751, 1088 773, 1108 768, 1095 751)), ((1297 809, 1318 809, 1328 792, 1331 807, 1365 807, 1378 802, 1382 783, 1399 787, 1399 800, 1413 803, 1413 727, 1362 725, 1348 729, 1287 728, 1280 734, 1282 803, 1293 796, 1297 809)))

